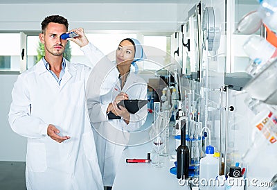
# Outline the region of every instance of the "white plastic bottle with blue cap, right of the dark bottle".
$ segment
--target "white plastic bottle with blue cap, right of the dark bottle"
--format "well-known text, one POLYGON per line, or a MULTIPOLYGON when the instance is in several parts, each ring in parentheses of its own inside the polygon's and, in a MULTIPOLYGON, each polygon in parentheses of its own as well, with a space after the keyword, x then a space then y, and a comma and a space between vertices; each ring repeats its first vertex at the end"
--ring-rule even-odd
POLYGON ((219 162, 213 157, 213 146, 206 146, 206 157, 200 159, 199 187, 201 190, 215 189, 215 178, 219 173, 219 162))

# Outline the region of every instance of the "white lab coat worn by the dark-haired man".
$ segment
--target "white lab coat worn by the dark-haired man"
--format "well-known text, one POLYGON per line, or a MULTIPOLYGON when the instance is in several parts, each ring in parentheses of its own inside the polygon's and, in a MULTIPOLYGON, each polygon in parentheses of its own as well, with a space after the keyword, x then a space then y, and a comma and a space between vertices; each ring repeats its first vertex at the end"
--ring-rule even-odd
MULTIPOLYGON (((102 53, 92 44, 82 50, 95 67, 102 53)), ((114 67, 111 62, 107 65, 114 67)), ((89 74, 90 67, 66 61, 58 85, 40 60, 17 78, 8 120, 12 130, 28 137, 27 189, 103 189, 84 92, 89 74), (57 143, 48 137, 50 123, 71 139, 57 143)), ((108 78, 109 85, 118 76, 112 74, 115 78, 108 78)))

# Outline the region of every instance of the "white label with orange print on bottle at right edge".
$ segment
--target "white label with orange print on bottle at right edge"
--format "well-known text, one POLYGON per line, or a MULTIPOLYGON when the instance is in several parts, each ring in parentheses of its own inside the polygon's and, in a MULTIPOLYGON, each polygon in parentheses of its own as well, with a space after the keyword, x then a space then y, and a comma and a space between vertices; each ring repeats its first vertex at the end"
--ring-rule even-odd
POLYGON ((276 124, 277 116, 272 112, 269 112, 265 119, 262 119, 262 121, 256 125, 256 128, 262 132, 262 134, 266 139, 269 140, 269 142, 271 142, 271 144, 276 142, 276 138, 274 137, 277 134, 276 124))

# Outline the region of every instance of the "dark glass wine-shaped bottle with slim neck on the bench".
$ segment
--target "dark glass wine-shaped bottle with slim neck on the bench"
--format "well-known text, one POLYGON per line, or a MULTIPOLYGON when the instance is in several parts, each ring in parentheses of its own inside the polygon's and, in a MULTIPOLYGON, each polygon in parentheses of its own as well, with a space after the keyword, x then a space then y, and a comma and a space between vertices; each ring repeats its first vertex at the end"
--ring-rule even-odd
POLYGON ((188 179, 189 150, 186 146, 186 122, 181 128, 181 145, 177 148, 177 178, 188 179))

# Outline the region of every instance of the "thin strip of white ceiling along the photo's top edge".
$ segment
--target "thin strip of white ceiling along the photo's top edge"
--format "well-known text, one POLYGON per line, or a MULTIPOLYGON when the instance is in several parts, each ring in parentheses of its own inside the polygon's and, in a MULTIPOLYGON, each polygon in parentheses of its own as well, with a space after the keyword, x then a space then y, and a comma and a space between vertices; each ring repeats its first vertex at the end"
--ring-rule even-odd
MULTIPOLYGON (((191 0, 190 0, 191 1, 191 0)), ((1 3, 190 3, 186 0, 0 0, 1 3)))

